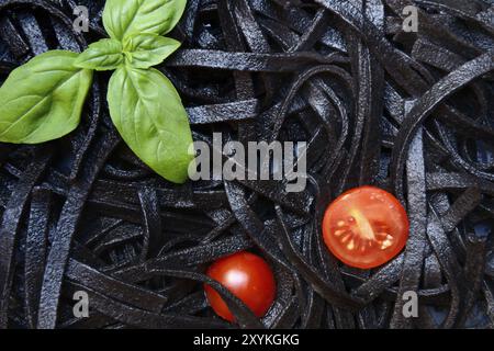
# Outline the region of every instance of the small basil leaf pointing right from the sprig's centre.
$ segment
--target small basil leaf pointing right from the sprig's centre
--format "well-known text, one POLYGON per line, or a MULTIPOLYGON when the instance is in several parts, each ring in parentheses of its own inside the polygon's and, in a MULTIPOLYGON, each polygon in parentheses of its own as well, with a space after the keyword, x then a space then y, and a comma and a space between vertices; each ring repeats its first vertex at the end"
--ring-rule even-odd
POLYGON ((149 68, 161 64, 175 53, 181 43, 156 34, 136 34, 124 41, 130 64, 136 68, 149 68))

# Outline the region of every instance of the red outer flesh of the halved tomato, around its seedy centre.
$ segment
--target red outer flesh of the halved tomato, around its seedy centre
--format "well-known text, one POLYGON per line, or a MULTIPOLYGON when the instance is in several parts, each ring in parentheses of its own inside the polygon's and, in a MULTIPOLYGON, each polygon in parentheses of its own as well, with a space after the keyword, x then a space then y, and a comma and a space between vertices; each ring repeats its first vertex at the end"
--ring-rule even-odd
POLYGON ((391 193, 369 185, 351 189, 339 195, 329 204, 323 219, 323 239, 329 251, 345 264, 359 269, 382 265, 397 256, 406 245, 408 230, 408 217, 400 201, 391 193), (371 200, 371 196, 378 196, 379 200, 371 200), (345 250, 339 242, 341 240, 336 238, 335 224, 349 216, 351 208, 358 208, 370 224, 379 222, 388 225, 393 245, 385 250, 378 250, 375 245, 373 249, 363 252, 345 250))

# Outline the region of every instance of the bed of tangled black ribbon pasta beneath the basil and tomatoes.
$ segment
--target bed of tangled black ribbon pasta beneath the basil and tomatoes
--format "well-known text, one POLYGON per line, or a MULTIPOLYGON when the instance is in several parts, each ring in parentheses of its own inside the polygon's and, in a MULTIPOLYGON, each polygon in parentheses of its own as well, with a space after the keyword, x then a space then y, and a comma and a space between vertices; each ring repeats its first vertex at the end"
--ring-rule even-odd
MULTIPOLYGON (((47 49, 104 35, 103 0, 0 0, 0 82, 47 49), (89 33, 72 29, 76 5, 89 33)), ((96 76, 82 123, 44 145, 0 144, 0 328, 494 327, 494 2, 189 0, 158 68, 195 140, 307 141, 307 188, 173 185, 121 143, 96 76), (403 8, 418 8, 407 33, 403 8), (374 184, 411 235, 384 267, 350 269, 322 242, 324 210, 374 184), (270 261, 278 294, 258 319, 204 272, 242 250, 270 261), (89 318, 72 314, 85 291, 89 318), (405 291, 419 317, 405 318, 405 291)), ((1 116, 0 116, 1 118, 1 116)))

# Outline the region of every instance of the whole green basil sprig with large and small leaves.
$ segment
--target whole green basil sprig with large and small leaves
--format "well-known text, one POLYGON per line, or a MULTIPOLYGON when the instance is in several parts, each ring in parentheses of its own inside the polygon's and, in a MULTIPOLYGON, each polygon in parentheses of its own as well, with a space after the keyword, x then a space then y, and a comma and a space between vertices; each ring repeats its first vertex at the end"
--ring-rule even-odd
POLYGON ((115 70, 108 103, 128 147, 165 179, 183 183, 193 160, 189 118, 170 80, 151 68, 180 43, 161 35, 183 14, 187 0, 108 0, 110 38, 82 54, 52 50, 14 69, 0 88, 0 141, 38 144, 80 123, 93 70, 115 70))

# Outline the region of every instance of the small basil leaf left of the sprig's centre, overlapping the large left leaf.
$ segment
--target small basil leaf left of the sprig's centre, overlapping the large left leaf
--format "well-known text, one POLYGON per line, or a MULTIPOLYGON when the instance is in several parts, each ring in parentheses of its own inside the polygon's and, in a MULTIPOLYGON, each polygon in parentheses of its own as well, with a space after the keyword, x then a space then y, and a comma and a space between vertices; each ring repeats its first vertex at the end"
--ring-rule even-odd
POLYGON ((122 43, 115 39, 101 39, 89 45, 74 65, 88 69, 111 70, 122 63, 122 43))

